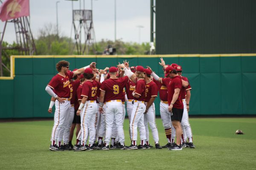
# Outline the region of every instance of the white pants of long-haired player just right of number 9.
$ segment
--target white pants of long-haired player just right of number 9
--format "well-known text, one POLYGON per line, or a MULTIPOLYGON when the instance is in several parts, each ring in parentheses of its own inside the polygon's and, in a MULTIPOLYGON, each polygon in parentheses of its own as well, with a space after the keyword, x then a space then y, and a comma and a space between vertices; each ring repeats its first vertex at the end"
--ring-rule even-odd
POLYGON ((140 128, 140 140, 146 139, 146 131, 143 116, 145 110, 146 106, 144 102, 134 101, 130 122, 131 141, 137 141, 137 127, 140 128))

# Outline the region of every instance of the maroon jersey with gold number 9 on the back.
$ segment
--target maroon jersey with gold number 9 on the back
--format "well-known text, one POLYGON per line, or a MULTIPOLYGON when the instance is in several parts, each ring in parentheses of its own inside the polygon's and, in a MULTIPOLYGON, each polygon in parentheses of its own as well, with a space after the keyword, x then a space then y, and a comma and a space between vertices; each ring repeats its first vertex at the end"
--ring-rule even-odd
POLYGON ((100 90, 105 92, 105 101, 122 100, 123 89, 128 81, 129 77, 125 76, 120 78, 109 78, 102 82, 100 90))

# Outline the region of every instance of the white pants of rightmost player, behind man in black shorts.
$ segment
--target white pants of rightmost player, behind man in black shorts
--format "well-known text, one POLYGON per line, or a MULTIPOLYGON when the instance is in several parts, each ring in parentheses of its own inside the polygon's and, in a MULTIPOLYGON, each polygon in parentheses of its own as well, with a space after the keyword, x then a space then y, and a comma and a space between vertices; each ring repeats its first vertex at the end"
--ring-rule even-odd
POLYGON ((183 130, 183 138, 184 140, 186 140, 187 138, 192 138, 192 130, 189 124, 189 114, 186 108, 186 100, 182 99, 182 102, 183 102, 184 109, 183 109, 183 116, 182 116, 180 125, 183 130))

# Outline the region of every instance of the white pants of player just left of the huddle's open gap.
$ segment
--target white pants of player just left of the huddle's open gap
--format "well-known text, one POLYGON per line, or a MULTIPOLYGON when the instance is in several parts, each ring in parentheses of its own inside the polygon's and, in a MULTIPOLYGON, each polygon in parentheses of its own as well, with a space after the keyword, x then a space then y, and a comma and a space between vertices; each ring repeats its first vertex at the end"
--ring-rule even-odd
MULTIPOLYGON (((145 103, 147 106, 147 103, 145 103)), ((155 112, 155 106, 154 103, 148 108, 148 112, 144 114, 144 125, 146 130, 146 141, 149 141, 149 130, 148 130, 148 124, 150 126, 152 136, 154 139, 154 142, 157 144, 159 142, 159 136, 157 131, 157 124, 156 124, 156 112, 155 112)))

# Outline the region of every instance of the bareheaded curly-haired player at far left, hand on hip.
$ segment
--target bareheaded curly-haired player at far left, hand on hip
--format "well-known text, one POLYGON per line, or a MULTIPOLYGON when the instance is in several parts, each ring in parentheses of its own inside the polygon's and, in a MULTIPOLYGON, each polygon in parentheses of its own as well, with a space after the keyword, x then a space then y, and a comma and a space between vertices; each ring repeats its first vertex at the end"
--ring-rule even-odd
POLYGON ((61 141, 63 139, 64 127, 67 125, 67 115, 70 112, 70 79, 74 76, 81 74, 85 68, 89 68, 94 65, 92 62, 90 65, 79 68, 76 71, 69 71, 69 62, 59 61, 56 64, 58 74, 56 74, 48 83, 45 90, 47 93, 56 99, 55 101, 55 114, 54 125, 52 128, 51 145, 50 150, 63 151, 63 145, 61 141), (53 91, 54 90, 54 91, 53 91))

